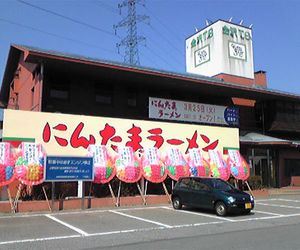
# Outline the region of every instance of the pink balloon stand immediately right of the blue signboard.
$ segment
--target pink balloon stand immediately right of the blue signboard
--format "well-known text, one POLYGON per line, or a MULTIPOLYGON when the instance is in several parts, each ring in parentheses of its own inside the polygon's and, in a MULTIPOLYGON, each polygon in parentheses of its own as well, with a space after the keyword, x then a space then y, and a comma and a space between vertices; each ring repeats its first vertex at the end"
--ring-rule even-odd
POLYGON ((104 145, 89 145, 88 156, 94 159, 94 182, 105 184, 110 182, 116 175, 113 159, 108 154, 104 145))

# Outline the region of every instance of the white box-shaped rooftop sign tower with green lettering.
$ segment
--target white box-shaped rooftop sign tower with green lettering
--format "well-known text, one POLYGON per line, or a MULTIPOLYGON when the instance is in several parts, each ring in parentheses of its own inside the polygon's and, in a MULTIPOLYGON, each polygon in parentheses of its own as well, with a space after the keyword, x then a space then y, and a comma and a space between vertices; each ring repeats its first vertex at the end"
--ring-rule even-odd
POLYGON ((188 73, 229 74, 254 79, 252 31, 217 21, 186 39, 188 73))

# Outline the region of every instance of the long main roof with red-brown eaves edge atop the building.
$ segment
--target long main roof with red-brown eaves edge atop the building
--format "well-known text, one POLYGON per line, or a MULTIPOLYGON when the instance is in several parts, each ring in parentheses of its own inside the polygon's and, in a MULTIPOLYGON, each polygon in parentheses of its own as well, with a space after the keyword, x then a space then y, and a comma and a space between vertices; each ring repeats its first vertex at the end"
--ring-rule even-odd
MULTIPOLYGON (((61 53, 57 51, 43 50, 39 48, 11 45, 6 69, 2 81, 0 101, 6 103, 9 94, 10 82, 13 80, 14 72, 18 65, 20 54, 24 53, 25 61, 32 63, 47 62, 47 64, 54 64, 58 62, 67 63, 68 67, 84 68, 92 67, 93 70, 114 70, 119 74, 131 73, 130 77, 163 80, 164 84, 171 83, 180 87, 195 88, 197 91, 209 93, 211 95, 223 95, 230 97, 248 98, 253 100, 287 100, 300 102, 300 95, 287 93, 258 86, 243 86, 230 82, 224 82, 220 79, 199 76, 193 74, 180 74, 169 71, 162 71, 157 69, 137 67, 126 65, 118 62, 111 62, 95 58, 84 57, 80 55, 73 55, 61 53)), ((141 82, 143 84, 143 81, 141 82)))

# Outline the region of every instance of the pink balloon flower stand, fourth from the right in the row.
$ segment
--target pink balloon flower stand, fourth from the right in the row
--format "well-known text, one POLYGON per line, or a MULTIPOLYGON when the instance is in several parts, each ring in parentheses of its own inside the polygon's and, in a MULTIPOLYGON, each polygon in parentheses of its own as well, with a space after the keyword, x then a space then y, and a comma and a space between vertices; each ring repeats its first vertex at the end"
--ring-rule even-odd
POLYGON ((178 148, 170 148, 165 157, 167 173, 171 179, 178 181, 180 177, 190 175, 189 165, 178 148))

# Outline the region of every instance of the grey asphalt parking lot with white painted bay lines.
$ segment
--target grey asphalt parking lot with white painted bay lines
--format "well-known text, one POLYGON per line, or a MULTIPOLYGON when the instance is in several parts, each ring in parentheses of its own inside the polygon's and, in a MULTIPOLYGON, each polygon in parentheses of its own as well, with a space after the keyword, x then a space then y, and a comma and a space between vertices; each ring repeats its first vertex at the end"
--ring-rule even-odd
POLYGON ((128 242, 292 225, 299 219, 300 195, 257 199, 251 214, 226 217, 203 210, 174 210, 169 204, 2 215, 0 249, 100 249, 128 242))

